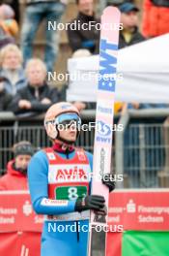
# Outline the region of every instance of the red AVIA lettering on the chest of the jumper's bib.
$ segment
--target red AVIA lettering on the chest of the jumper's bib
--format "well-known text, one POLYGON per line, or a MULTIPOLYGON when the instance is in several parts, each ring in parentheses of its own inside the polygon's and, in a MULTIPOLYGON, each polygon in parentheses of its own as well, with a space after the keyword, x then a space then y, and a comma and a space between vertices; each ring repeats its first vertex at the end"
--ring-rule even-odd
POLYGON ((72 169, 59 169, 56 175, 56 179, 87 179, 87 175, 83 169, 77 169, 75 166, 72 169))

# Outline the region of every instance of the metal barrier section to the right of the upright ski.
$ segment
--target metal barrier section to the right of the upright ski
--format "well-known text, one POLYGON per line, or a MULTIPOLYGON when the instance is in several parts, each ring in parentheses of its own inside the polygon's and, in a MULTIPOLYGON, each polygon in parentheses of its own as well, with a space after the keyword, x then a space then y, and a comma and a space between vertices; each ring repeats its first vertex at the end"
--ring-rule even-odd
POLYGON ((116 133, 117 187, 169 187, 169 109, 128 111, 116 133))

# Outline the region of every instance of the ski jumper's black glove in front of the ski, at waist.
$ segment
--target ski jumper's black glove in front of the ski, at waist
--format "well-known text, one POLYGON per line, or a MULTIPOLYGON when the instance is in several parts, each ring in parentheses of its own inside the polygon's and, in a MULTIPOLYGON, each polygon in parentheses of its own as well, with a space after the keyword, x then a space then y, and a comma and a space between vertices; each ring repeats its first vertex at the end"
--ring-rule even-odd
POLYGON ((75 203, 75 211, 82 211, 86 209, 100 210, 104 208, 105 199, 102 196, 92 195, 85 198, 78 198, 75 203))

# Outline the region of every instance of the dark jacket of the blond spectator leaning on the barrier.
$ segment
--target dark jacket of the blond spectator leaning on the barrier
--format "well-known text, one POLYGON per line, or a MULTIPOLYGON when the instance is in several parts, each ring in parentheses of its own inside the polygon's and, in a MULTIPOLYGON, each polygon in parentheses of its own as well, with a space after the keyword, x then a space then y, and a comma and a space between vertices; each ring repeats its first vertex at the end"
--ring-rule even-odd
POLYGON ((43 83, 42 86, 35 88, 28 84, 25 88, 18 90, 17 94, 14 96, 14 100, 10 104, 8 111, 14 113, 23 112, 46 112, 47 109, 54 103, 60 100, 60 94, 56 88, 50 88, 47 83, 43 83), (39 98, 36 98, 36 90, 39 92, 39 98), (47 98, 51 101, 51 104, 42 104, 42 99, 47 98), (18 102, 20 100, 27 100, 31 102, 31 110, 22 110, 18 107, 18 102))

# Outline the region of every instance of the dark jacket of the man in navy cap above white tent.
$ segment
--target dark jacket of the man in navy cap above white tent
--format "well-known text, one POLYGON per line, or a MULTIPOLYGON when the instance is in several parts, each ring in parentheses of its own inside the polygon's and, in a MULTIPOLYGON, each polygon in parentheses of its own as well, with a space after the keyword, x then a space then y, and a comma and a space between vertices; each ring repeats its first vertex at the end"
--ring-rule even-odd
POLYGON ((132 36, 131 36, 131 40, 128 43, 125 40, 125 37, 123 35, 123 31, 121 31, 120 35, 119 35, 119 48, 126 48, 126 47, 132 46, 134 44, 138 44, 140 42, 143 42, 144 40, 145 40, 145 38, 138 31, 137 27, 135 27, 135 29, 132 33, 132 36))

